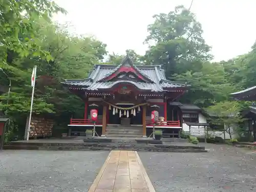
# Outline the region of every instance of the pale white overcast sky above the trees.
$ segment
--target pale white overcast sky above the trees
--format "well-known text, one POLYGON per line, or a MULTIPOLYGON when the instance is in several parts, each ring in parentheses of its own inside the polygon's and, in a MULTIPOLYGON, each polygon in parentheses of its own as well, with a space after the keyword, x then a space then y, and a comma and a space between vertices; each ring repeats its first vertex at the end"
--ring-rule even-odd
MULTIPOLYGON (((143 41, 152 16, 168 13, 178 5, 190 6, 191 0, 57 0, 68 11, 54 17, 70 22, 71 32, 96 36, 112 53, 134 49, 144 54, 143 41)), ((202 24, 215 61, 226 60, 250 51, 256 40, 256 0, 194 0, 190 11, 202 24)))

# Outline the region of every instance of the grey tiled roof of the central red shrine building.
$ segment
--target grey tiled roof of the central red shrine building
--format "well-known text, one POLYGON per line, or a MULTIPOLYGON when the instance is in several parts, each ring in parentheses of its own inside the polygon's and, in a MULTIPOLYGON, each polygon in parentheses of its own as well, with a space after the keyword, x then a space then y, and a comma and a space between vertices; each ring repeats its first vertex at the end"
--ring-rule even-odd
POLYGON ((117 69, 116 65, 95 65, 94 69, 90 72, 89 77, 86 79, 68 80, 66 79, 63 84, 69 86, 79 86, 86 90, 98 90, 109 89, 119 82, 126 82, 134 84, 138 89, 147 90, 152 92, 162 92, 168 88, 182 88, 188 87, 186 82, 174 82, 169 81, 165 77, 164 70, 160 65, 155 66, 136 66, 138 71, 151 80, 151 82, 135 82, 129 80, 118 80, 99 82, 102 78, 105 78, 113 73, 117 69))

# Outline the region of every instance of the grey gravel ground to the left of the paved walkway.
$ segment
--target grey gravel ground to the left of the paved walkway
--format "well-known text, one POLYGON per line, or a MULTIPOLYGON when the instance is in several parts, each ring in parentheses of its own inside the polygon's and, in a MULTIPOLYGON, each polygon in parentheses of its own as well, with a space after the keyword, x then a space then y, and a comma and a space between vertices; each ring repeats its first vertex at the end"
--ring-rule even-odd
POLYGON ((88 191, 109 152, 0 152, 0 191, 88 191))

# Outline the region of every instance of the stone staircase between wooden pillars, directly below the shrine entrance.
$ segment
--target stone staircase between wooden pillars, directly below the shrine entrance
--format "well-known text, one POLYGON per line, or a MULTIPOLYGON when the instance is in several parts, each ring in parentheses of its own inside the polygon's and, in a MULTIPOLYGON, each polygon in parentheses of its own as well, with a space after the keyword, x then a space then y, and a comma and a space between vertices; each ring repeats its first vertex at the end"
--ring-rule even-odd
POLYGON ((107 125, 107 137, 142 137, 142 126, 107 125))

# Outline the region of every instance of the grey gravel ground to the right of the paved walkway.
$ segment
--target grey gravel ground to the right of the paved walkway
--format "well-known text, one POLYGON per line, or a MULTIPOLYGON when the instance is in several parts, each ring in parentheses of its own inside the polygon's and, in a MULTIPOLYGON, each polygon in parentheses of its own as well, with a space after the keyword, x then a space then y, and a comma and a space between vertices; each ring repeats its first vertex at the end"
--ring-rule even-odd
POLYGON ((139 152, 156 192, 256 191, 256 156, 244 148, 205 144, 208 153, 139 152))

